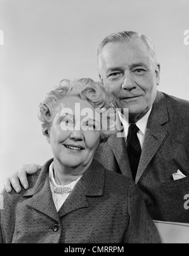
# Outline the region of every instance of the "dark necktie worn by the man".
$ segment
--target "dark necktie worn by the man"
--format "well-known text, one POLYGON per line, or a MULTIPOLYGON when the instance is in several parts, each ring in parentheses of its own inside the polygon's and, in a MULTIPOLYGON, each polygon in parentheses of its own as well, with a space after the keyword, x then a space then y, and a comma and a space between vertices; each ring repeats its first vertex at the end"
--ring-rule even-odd
POLYGON ((139 138, 137 137, 137 131, 139 131, 139 128, 135 124, 131 124, 129 126, 129 133, 127 135, 127 151, 129 155, 130 168, 134 180, 137 174, 137 168, 139 166, 141 154, 141 147, 139 138))

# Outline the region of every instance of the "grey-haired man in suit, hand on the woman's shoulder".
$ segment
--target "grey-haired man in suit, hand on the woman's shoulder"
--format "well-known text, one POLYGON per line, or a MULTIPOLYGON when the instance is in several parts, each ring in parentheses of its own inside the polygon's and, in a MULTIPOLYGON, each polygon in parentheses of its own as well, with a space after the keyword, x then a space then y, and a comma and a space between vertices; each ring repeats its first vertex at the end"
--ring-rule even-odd
MULTIPOLYGON (((157 91, 154 46, 137 32, 108 35, 98 49, 98 69, 117 97, 124 136, 110 137, 96 159, 135 180, 152 219, 189 222, 189 102, 157 91)), ((19 176, 27 186, 24 169, 19 176)), ((19 189, 17 175, 11 182, 19 189)), ((10 189, 9 179, 5 188, 10 189)))

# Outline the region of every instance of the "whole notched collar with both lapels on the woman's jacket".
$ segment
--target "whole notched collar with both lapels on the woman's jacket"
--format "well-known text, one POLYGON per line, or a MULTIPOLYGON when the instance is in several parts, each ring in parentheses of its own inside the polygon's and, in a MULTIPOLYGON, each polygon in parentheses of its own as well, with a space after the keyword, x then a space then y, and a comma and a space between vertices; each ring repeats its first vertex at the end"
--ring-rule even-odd
POLYGON ((44 164, 40 174, 33 178, 31 188, 23 195, 23 197, 30 197, 27 202, 30 207, 59 221, 59 217, 73 210, 88 207, 87 196, 100 197, 103 194, 105 169, 94 159, 57 213, 49 185, 49 166, 52 161, 53 159, 50 159, 44 164), (33 186, 32 183, 34 183, 33 186))

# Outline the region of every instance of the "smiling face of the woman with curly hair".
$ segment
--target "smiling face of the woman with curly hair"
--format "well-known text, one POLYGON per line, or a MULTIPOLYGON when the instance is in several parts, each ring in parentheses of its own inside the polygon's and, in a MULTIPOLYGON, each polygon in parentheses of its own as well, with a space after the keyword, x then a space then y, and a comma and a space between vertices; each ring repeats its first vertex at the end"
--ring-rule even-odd
POLYGON ((88 101, 67 96, 59 103, 49 135, 55 161, 84 168, 100 143, 100 114, 88 101))

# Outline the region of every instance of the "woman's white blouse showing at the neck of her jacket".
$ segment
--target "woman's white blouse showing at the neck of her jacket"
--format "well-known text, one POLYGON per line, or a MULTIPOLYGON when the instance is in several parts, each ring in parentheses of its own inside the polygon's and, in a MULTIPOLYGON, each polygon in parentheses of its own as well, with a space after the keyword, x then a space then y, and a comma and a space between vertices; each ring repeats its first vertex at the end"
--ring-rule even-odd
POLYGON ((69 183, 68 185, 57 185, 57 183, 55 182, 54 179, 54 171, 53 171, 53 162, 50 164, 49 166, 49 182, 50 182, 50 189, 52 192, 52 198, 54 200, 54 204, 55 207, 57 209, 57 212, 59 211, 59 209, 62 207, 62 205, 64 204, 64 202, 66 201, 66 198, 69 196, 69 194, 71 193, 64 193, 64 194, 57 194, 54 192, 55 188, 71 188, 71 190, 74 188, 74 186, 76 186, 77 182, 80 180, 80 178, 82 177, 82 175, 77 178, 77 180, 72 181, 71 183, 69 183))

